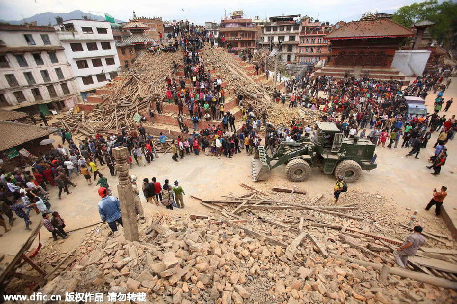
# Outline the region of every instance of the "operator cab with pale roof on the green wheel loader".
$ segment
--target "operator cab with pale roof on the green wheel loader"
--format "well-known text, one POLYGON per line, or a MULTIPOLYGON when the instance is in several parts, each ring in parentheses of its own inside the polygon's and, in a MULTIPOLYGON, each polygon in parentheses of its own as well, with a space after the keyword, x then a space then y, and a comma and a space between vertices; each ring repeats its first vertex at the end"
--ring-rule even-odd
POLYGON ((320 147, 320 154, 338 153, 343 143, 344 134, 332 122, 318 122, 313 143, 320 147))

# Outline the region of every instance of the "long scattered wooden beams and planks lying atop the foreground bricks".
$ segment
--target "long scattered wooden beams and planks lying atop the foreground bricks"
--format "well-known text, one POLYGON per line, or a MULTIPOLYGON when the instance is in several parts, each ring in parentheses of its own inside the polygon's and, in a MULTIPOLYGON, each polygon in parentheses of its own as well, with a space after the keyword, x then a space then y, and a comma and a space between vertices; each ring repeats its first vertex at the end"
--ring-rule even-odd
MULTIPOLYGON (((273 227, 271 232, 274 231, 274 228, 294 233, 306 231, 316 246, 315 250, 324 256, 339 256, 348 253, 341 248, 338 249, 338 246, 334 244, 340 240, 346 244, 344 249, 349 247, 354 249, 349 251, 350 256, 373 263, 383 262, 394 265, 392 252, 404 244, 404 241, 392 238, 391 234, 385 236, 382 233, 371 232, 370 226, 373 223, 370 223, 371 221, 367 217, 357 215, 357 211, 360 209, 359 202, 324 206, 319 204, 323 194, 317 194, 307 201, 304 196, 306 191, 296 188, 273 188, 272 190, 275 192, 289 194, 271 195, 246 184, 240 185, 250 192, 238 197, 223 195, 221 199, 201 199, 200 203, 226 218, 232 218, 235 223, 253 223, 254 218, 270 224, 273 227), (245 217, 242 217, 242 214, 245 214, 245 217)), ((361 214, 363 215, 363 213, 361 214)), ((256 225, 253 226, 256 227, 256 225)), ((379 222, 375 226, 380 231, 388 230, 388 226, 382 227, 379 222)), ((401 233, 402 239, 412 232, 412 226, 402 223, 397 223, 397 228, 403 230, 401 231, 403 232, 401 233)), ((449 244, 451 246, 453 244, 449 242, 449 235, 431 230, 426 230, 423 234, 428 239, 428 246, 436 244, 436 246, 447 245, 449 247, 449 244)), ((280 238, 273 239, 266 235, 262 235, 262 237, 270 239, 272 243, 283 242, 280 238)), ((455 249, 420 247, 416 256, 409 259, 408 267, 428 276, 457 281, 456 263, 457 250, 455 249)), ((426 282, 429 282, 429 279, 426 282)))

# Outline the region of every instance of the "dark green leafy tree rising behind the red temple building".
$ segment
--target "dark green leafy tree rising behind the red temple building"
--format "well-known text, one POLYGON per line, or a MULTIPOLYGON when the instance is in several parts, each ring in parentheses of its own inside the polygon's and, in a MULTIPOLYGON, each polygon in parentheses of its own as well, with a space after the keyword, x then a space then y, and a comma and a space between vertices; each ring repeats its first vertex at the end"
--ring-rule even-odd
POLYGON ((444 48, 451 48, 456 40, 457 32, 457 4, 444 1, 439 4, 437 0, 428 0, 421 3, 401 7, 392 16, 392 21, 403 26, 411 27, 413 23, 429 20, 435 22, 430 28, 432 38, 444 48))

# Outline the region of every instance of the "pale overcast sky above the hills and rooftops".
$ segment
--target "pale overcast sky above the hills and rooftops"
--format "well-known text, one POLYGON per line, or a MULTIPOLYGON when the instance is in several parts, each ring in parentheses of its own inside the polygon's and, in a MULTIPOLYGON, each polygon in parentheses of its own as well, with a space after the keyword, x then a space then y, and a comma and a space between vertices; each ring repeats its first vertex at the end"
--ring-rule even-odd
MULTIPOLYGON (((319 18, 320 21, 336 23, 339 20, 352 21, 360 18, 366 11, 392 13, 401 6, 414 3, 414 0, 0 0, 0 19, 20 20, 38 13, 69 13, 81 10, 100 15, 109 13, 113 17, 128 21, 132 11, 137 16, 161 16, 164 20, 188 19, 190 22, 204 24, 205 21, 220 21, 230 12, 243 10, 248 18, 301 14, 319 18)), ((418 0, 418 2, 421 2, 418 0)), ((441 2, 441 1, 440 1, 441 2)))

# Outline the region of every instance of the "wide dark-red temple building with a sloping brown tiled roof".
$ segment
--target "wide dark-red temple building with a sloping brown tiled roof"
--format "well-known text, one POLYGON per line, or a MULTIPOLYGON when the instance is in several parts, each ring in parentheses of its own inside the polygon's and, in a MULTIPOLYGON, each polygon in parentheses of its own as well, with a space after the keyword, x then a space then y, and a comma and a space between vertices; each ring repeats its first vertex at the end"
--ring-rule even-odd
POLYGON ((390 68, 395 51, 407 37, 409 28, 389 19, 352 21, 328 33, 330 66, 390 68))

